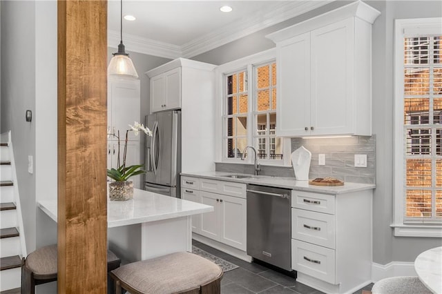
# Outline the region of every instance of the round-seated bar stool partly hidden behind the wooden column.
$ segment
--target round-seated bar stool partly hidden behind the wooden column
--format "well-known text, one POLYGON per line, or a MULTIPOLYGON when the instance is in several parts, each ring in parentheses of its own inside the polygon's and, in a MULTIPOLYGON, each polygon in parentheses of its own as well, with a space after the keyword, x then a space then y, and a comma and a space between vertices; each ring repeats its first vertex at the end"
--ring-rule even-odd
MULTIPOLYGON (((119 267, 121 260, 108 250, 108 272, 119 267)), ((57 244, 38 248, 22 259, 21 293, 34 294, 35 286, 57 281, 57 244)))

